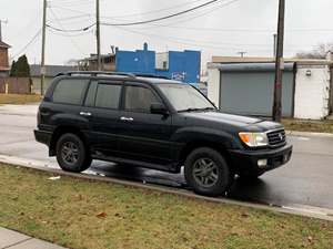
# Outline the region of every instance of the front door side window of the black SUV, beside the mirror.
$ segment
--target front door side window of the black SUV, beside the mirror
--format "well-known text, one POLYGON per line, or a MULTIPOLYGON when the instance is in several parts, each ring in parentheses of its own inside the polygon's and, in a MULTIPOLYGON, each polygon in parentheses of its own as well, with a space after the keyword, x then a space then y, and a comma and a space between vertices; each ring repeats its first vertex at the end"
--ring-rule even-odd
POLYGON ((152 90, 135 85, 125 86, 125 111, 150 113, 152 103, 161 103, 152 90))

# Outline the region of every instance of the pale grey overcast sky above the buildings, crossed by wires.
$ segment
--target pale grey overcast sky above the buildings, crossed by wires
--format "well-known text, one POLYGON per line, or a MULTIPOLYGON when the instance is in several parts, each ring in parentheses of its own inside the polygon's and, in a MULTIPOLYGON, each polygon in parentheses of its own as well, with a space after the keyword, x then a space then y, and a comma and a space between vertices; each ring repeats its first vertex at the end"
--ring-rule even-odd
MULTIPOLYGON (((102 22, 141 21, 185 10, 208 0, 101 0, 102 22), (141 14, 143 13, 143 14, 141 14)), ((73 30, 94 23, 95 0, 50 0, 48 23, 73 30)), ((102 27, 102 53, 111 45, 124 50, 200 50, 206 62, 212 55, 270 56, 276 30, 279 0, 220 0, 201 10, 145 25, 102 27)), ((42 0, 0 0, 3 41, 11 58, 27 53, 30 63, 40 63, 42 0), (33 38, 37 35, 37 39, 33 38), (27 46, 27 44, 30 42, 27 46)), ((285 55, 311 50, 333 41, 332 0, 286 0, 285 55)), ((64 64, 95 52, 94 27, 87 32, 48 30, 47 63, 64 64)))

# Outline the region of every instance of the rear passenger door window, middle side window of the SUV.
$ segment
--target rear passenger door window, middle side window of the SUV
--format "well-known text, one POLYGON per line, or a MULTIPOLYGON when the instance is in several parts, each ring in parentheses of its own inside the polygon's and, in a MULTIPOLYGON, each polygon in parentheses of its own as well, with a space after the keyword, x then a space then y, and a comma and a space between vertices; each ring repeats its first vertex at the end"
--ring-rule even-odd
POLYGON ((97 89, 95 106, 103 108, 118 108, 121 85, 99 84, 97 89))

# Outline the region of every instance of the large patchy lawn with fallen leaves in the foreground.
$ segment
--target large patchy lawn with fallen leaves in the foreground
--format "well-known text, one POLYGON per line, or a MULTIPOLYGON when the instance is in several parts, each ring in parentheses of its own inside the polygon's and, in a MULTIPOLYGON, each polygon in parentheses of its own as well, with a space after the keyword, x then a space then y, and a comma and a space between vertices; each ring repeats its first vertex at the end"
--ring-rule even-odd
POLYGON ((333 248, 333 222, 0 165, 0 226, 69 248, 333 248))

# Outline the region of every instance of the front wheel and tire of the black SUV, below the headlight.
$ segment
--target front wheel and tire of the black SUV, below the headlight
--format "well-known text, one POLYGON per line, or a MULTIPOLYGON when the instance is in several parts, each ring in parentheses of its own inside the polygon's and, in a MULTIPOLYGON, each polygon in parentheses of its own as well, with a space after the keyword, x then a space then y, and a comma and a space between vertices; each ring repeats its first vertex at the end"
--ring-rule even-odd
POLYGON ((209 147, 194 149, 185 160, 186 183, 199 195, 225 195, 233 181, 233 174, 223 156, 209 147))

